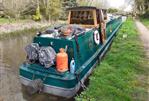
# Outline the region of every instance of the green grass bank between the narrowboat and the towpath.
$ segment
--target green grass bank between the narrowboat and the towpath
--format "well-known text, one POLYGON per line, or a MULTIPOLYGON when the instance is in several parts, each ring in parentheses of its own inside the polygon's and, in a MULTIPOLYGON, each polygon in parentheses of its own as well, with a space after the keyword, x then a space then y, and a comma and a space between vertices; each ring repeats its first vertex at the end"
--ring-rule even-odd
POLYGON ((147 101, 147 68, 134 21, 128 19, 77 101, 147 101), (127 38, 123 35, 127 34, 127 38))

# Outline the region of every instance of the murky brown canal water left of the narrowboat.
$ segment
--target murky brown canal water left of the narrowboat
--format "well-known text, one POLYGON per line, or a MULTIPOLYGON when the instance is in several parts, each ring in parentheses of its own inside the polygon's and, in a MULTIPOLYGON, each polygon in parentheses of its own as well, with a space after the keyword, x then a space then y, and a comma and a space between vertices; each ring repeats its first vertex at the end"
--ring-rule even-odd
POLYGON ((0 101, 74 101, 49 94, 29 95, 19 81, 19 65, 25 60, 24 47, 33 34, 0 41, 0 101))

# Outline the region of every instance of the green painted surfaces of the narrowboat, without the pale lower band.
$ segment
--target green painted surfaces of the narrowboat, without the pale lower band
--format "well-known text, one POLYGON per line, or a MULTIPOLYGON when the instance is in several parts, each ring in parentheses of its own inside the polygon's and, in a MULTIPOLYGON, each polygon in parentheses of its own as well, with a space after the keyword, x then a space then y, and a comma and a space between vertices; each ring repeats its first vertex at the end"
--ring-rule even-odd
MULTIPOLYGON (((65 48, 68 46, 68 56, 69 63, 72 58, 75 59, 76 63, 76 75, 78 79, 81 80, 86 73, 93 68, 92 66, 96 63, 104 49, 108 48, 111 44, 117 30, 122 24, 121 18, 114 19, 107 23, 106 33, 107 40, 105 44, 96 45, 93 39, 93 32, 95 29, 81 34, 78 36, 79 51, 77 51, 77 46, 75 39, 52 39, 52 38, 43 38, 35 37, 33 42, 39 43, 41 46, 51 46, 55 49, 56 52, 60 48, 65 48), (110 32, 110 26, 112 26, 112 32, 110 32)), ((99 30, 100 28, 96 29, 99 30)), ((22 64, 20 66, 20 76, 28 78, 30 80, 41 78, 45 79, 44 84, 52 85, 62 88, 73 88, 78 84, 76 75, 71 74, 69 71, 64 73, 59 73, 56 71, 55 67, 50 67, 48 69, 44 68, 40 64, 22 64)))

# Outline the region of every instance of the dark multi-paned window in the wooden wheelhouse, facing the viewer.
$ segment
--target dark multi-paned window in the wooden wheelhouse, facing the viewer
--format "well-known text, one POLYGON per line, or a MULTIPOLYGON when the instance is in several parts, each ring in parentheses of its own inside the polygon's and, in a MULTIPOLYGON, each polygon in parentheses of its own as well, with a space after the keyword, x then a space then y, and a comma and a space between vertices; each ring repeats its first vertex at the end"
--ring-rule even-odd
POLYGON ((94 25, 93 11, 71 11, 70 24, 94 25))

